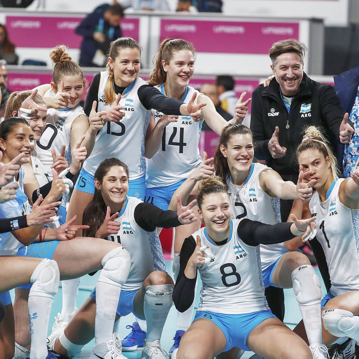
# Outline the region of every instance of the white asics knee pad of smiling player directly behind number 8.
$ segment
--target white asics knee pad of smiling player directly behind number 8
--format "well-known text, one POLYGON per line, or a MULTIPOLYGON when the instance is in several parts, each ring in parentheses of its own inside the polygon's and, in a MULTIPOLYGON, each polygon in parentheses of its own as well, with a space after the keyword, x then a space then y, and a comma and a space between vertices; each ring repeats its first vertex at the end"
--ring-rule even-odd
POLYGON ((299 304, 320 303, 322 290, 320 280, 310 264, 300 266, 292 272, 293 291, 299 304))

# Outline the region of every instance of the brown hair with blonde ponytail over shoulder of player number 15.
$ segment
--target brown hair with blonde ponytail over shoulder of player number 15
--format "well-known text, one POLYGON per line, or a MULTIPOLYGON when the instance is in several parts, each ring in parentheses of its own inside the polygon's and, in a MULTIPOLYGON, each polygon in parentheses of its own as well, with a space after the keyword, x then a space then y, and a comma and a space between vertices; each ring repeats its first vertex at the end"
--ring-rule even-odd
MULTIPOLYGON (((111 42, 107 57, 111 57, 111 59, 115 61, 116 57, 120 53, 120 50, 123 50, 125 48, 134 48, 138 50, 141 55, 142 47, 136 40, 134 40, 132 37, 119 37, 111 42)), ((108 60, 106 64, 106 70, 108 71, 109 77, 105 85, 105 103, 111 104, 116 99, 115 87, 113 85, 115 81, 115 73, 113 72, 113 69, 111 68, 108 60)))

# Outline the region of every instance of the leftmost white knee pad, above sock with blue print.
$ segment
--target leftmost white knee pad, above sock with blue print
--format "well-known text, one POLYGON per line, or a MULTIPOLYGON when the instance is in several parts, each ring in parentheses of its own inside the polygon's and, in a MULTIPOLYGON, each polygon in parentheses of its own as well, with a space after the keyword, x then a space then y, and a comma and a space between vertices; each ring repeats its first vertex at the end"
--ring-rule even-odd
POLYGON ((59 289, 60 272, 55 261, 43 259, 35 268, 30 283, 29 297, 36 295, 38 297, 53 298, 59 289))

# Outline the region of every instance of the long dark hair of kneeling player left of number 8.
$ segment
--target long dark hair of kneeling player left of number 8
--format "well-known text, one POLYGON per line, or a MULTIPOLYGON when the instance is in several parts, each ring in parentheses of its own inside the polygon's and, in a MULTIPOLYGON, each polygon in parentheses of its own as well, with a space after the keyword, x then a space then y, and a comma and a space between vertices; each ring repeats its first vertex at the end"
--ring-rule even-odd
MULTIPOLYGON (((96 172, 95 178, 102 183, 103 178, 106 176, 108 171, 115 166, 122 167, 129 176, 129 168, 125 163, 117 158, 107 158, 100 163, 96 172)), ((96 232, 101 227, 103 220, 105 219, 107 206, 103 200, 101 191, 95 189, 93 199, 89 202, 84 210, 82 216, 82 223, 90 226, 89 229, 84 229, 85 237, 95 237, 96 232)))

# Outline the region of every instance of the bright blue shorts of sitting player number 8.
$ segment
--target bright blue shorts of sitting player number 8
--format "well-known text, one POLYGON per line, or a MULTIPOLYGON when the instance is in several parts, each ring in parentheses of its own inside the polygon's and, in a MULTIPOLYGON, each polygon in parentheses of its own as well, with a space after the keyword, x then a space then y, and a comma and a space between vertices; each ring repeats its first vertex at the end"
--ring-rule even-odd
POLYGON ((276 318, 276 316, 270 310, 244 314, 197 311, 193 322, 200 318, 210 320, 223 332, 227 341, 223 351, 232 349, 234 346, 242 350, 251 351, 251 349, 247 347, 248 335, 250 335, 251 331, 260 325, 260 323, 269 318, 276 318))

